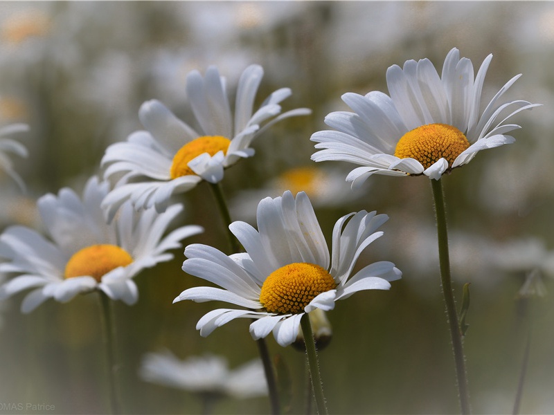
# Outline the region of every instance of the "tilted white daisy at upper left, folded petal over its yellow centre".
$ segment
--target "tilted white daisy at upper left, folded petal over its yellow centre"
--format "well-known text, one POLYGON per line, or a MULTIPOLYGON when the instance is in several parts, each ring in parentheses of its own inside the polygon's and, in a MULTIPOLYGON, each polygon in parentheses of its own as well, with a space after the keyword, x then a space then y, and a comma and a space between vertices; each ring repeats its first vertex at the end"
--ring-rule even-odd
POLYGON ((102 158, 105 177, 118 178, 116 188, 103 202, 109 216, 127 199, 137 209, 154 206, 158 212, 165 211, 172 194, 187 192, 202 180, 218 183, 226 167, 253 156, 252 140, 272 124, 310 113, 309 109, 281 113, 280 102, 292 93, 288 88, 271 93, 254 112, 262 76, 259 65, 244 70, 233 118, 225 80, 217 68, 210 66, 204 77, 198 71, 188 73, 186 93, 199 132, 161 102, 145 102, 139 118, 148 131, 136 131, 126 142, 110 145, 102 158))

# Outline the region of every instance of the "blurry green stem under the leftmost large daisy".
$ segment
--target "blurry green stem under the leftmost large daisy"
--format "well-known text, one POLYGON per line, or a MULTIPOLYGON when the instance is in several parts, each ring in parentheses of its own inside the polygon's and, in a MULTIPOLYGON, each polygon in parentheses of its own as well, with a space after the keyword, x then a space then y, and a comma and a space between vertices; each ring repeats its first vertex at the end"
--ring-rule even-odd
POLYGON ((114 313, 111 308, 111 299, 100 291, 100 305, 102 308, 101 320, 104 332, 105 364, 107 372, 107 388, 109 409, 111 414, 119 414, 118 388, 116 385, 116 353, 115 353, 115 326, 114 313))

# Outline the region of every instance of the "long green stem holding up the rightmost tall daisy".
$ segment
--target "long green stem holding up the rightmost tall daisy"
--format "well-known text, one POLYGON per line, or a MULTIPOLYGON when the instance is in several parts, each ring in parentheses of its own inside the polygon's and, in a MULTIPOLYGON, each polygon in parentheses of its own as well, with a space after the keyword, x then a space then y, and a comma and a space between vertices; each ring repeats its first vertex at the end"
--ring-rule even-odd
POLYGON ((470 414, 470 396, 467 388, 465 372, 465 360, 463 356, 462 333, 458 324, 456 304, 452 293, 452 280, 450 277, 450 258, 448 252, 448 234, 446 225, 445 199, 443 194, 443 183, 431 179, 438 234, 438 259, 440 263, 440 281, 443 286, 443 295, 448 316, 452 349, 454 350, 454 361, 456 364, 456 378, 458 380, 458 394, 460 398, 462 414, 470 414))

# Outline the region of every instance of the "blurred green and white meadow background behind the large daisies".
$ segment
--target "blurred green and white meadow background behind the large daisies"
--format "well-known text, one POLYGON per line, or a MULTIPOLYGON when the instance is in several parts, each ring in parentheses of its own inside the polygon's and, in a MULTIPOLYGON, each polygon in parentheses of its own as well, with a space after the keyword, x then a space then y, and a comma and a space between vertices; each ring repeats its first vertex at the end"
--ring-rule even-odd
MULTIPOLYGON (((472 407, 476 414, 512 412, 530 333, 521 413, 554 413, 554 3, 1 2, 0 123, 25 122, 31 130, 21 138, 28 158, 15 160, 28 190, 1 177, 0 226, 40 229, 36 199, 64 186, 80 193, 100 172, 106 147, 143 128, 137 114, 145 100, 161 100, 191 120, 188 71, 217 65, 234 102, 242 70, 261 64, 258 102, 288 86, 293 95, 284 109, 313 113, 269 129, 254 142, 256 156, 226 172, 222 185, 233 219, 255 225, 258 201, 287 188, 307 190, 328 240, 340 216, 377 210, 391 219, 357 268, 388 260, 403 272, 391 291, 358 293, 328 313, 333 338, 319 356, 330 413, 456 413, 429 181, 374 176, 351 192, 344 178, 353 166, 316 165, 309 140, 325 129, 325 115, 347 109, 343 93, 388 93, 386 68, 407 59, 428 57, 440 73, 452 47, 472 59, 475 72, 493 53, 485 99, 523 73, 509 98, 544 104, 512 119, 523 127, 514 131, 514 145, 483 151, 443 180, 458 304, 463 284, 471 283, 465 355, 472 407), (311 185, 310 177, 319 182, 311 185), (521 291, 525 282, 532 289, 521 291)), ((208 186, 184 199, 184 222, 206 228, 186 243, 225 249, 208 186)), ((208 338, 195 330, 199 317, 223 304, 172 304, 184 289, 205 284, 181 270, 182 251, 136 277, 136 305, 115 304, 125 413, 202 411, 193 394, 139 378, 145 353, 168 349, 181 359, 213 353, 231 368, 258 356, 246 320, 208 338)), ((23 297, 0 304, 0 403, 53 405, 43 413, 105 413, 96 293, 67 304, 48 301, 29 315, 19 311, 23 297)), ((303 413, 305 356, 267 340, 290 376, 286 410, 303 413)), ((26 409, 0 405, 0 414, 13 412, 26 409)), ((215 414, 267 412, 267 398, 226 398, 213 407, 215 414)))

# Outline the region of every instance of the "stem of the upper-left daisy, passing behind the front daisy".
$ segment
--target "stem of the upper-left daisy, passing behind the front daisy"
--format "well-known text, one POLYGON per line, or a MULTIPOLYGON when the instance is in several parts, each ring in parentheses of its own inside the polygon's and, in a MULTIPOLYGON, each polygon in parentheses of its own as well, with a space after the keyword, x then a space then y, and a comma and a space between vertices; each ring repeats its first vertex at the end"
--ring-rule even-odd
MULTIPOLYGON (((223 195, 220 183, 210 183, 210 187, 213 192, 213 196, 215 197, 217 208, 220 211, 226 227, 226 233, 227 238, 229 239, 229 247, 231 248, 231 253, 241 252, 242 246, 240 246, 240 242, 238 241, 238 239, 235 238, 235 235, 233 235, 233 232, 231 232, 231 230, 229 229, 229 225, 231 225, 231 214, 229 213, 229 208, 227 208, 227 203, 225 201, 225 196, 223 195)), ((269 390, 269 401, 271 403, 271 413, 273 415, 278 415, 280 414, 280 405, 279 395, 277 391, 277 382, 265 338, 256 340, 256 344, 258 344, 258 351, 260 353, 260 358, 262 359, 262 364, 264 366, 267 388, 269 390)))

